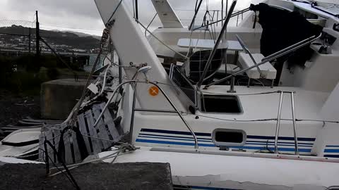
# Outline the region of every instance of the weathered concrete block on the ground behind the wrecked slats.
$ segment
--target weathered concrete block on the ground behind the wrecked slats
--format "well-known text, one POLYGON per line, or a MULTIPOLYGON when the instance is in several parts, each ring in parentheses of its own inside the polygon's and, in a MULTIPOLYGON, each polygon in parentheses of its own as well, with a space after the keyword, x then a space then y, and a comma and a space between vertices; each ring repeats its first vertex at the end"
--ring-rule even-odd
POLYGON ((64 120, 81 98, 86 80, 61 79, 44 82, 41 87, 42 118, 64 120))

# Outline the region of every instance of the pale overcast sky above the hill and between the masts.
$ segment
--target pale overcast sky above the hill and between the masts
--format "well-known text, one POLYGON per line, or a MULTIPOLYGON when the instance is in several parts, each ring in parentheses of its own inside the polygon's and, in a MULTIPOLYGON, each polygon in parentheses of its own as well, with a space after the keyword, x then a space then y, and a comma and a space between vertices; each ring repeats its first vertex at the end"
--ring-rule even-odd
MULTIPOLYGON (((132 0, 126 0, 132 2, 132 0)), ((206 0, 205 0, 206 1, 206 0)), ((204 1, 201 9, 206 9, 204 1)), ((225 0, 226 1, 226 0, 225 0)), ((250 0, 238 0, 236 9, 249 6, 250 0)), ((148 25, 155 14, 150 0, 139 0, 139 18, 148 25)), ((179 18, 189 23, 194 12, 196 0, 169 0, 179 18)), ((209 0, 210 10, 220 9, 221 0, 209 0)), ((101 35, 104 27, 94 0, 0 0, 0 20, 35 20, 35 10, 39 11, 39 21, 42 29, 74 30, 89 34, 101 35)), ((203 11, 204 12, 204 11, 203 11)), ((159 27, 160 21, 155 19, 154 27, 159 27)), ((0 23, 1 27, 1 23, 0 23)))

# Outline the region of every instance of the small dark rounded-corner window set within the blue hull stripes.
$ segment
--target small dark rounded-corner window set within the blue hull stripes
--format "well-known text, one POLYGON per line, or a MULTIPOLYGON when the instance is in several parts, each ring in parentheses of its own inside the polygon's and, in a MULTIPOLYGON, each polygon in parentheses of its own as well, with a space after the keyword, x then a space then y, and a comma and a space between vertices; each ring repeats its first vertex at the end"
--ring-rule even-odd
POLYGON ((214 129, 212 141, 218 146, 244 146, 246 133, 240 129, 214 129))

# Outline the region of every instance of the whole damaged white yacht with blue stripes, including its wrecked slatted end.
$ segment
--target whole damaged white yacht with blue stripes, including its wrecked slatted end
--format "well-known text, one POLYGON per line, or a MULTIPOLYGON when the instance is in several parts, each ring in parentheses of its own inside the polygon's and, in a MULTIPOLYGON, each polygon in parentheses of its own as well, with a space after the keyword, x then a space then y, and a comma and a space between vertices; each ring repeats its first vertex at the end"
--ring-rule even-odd
POLYGON ((44 129, 40 159, 170 163, 174 189, 339 189, 338 5, 269 0, 227 27, 234 0, 213 37, 153 2, 164 27, 145 37, 129 2, 95 0, 119 65, 44 129))

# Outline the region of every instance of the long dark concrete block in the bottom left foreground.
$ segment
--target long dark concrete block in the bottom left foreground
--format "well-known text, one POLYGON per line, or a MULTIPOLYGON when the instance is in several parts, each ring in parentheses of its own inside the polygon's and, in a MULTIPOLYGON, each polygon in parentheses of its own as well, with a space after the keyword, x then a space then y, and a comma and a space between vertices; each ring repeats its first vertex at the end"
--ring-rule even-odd
MULTIPOLYGON (((44 164, 2 165, 0 189, 74 189, 63 174, 47 177, 45 167, 44 164)), ((173 189, 169 163, 90 163, 70 172, 81 190, 173 189)))

